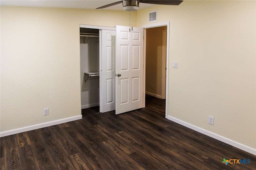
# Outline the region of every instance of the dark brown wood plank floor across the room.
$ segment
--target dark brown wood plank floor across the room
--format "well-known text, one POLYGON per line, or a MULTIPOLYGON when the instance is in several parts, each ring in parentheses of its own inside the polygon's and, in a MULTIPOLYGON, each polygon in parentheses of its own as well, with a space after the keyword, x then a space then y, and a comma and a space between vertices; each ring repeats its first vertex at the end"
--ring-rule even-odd
POLYGON ((256 156, 178 125, 165 100, 146 96, 146 107, 115 115, 98 107, 83 119, 2 137, 1 170, 255 170, 256 156), (223 158, 250 164, 222 164, 223 158))

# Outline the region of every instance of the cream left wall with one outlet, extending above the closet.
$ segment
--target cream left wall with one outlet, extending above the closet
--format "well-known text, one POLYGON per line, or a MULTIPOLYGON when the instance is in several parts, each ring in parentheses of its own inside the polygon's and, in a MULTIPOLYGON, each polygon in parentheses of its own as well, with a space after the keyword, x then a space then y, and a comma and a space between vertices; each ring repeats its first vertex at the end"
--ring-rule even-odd
POLYGON ((127 26, 129 13, 1 6, 1 132, 81 115, 79 24, 127 26))

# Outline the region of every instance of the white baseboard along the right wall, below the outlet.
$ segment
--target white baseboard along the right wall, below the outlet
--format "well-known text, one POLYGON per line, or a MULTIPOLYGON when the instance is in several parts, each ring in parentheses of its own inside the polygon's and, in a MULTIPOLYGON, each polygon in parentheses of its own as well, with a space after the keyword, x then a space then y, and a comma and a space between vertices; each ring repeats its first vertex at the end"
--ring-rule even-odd
POLYGON ((180 119, 177 119, 177 118, 175 118, 175 117, 172 117, 172 116, 169 116, 169 115, 168 115, 166 118, 169 119, 169 120, 171 120, 171 121, 174 121, 174 122, 176 122, 176 123, 178 123, 178 124, 180 124, 180 125, 183 125, 183 126, 185 126, 185 127, 188 127, 189 129, 193 129, 194 131, 200 132, 200 133, 202 133, 202 134, 204 134, 204 135, 207 135, 207 136, 209 136, 209 137, 212 137, 212 138, 214 138, 214 139, 217 139, 217 140, 219 140, 219 141, 222 141, 222 142, 224 142, 224 143, 226 143, 226 144, 228 144, 228 145, 231 145, 231 146, 233 146, 233 147, 236 147, 236 148, 238 148, 238 149, 241 149, 241 150, 244 150, 244 151, 246 151, 246 152, 249 152, 249 153, 251 153, 251 154, 256 155, 256 149, 254 149, 254 148, 252 148, 252 147, 248 147, 248 146, 246 146, 246 145, 244 145, 244 144, 242 144, 242 143, 238 143, 238 142, 236 142, 236 141, 233 141, 233 140, 231 140, 231 139, 228 139, 228 138, 223 137, 223 136, 221 136, 221 135, 218 135, 218 134, 216 134, 216 133, 212 133, 212 132, 210 132, 210 131, 207 131, 207 130, 205 130, 205 129, 202 129, 202 128, 200 128, 200 127, 197 127, 197 126, 195 126, 195 125, 192 125, 192 124, 190 124, 190 123, 187 123, 187 122, 185 122, 185 121, 182 121, 182 120, 180 120, 180 119))

